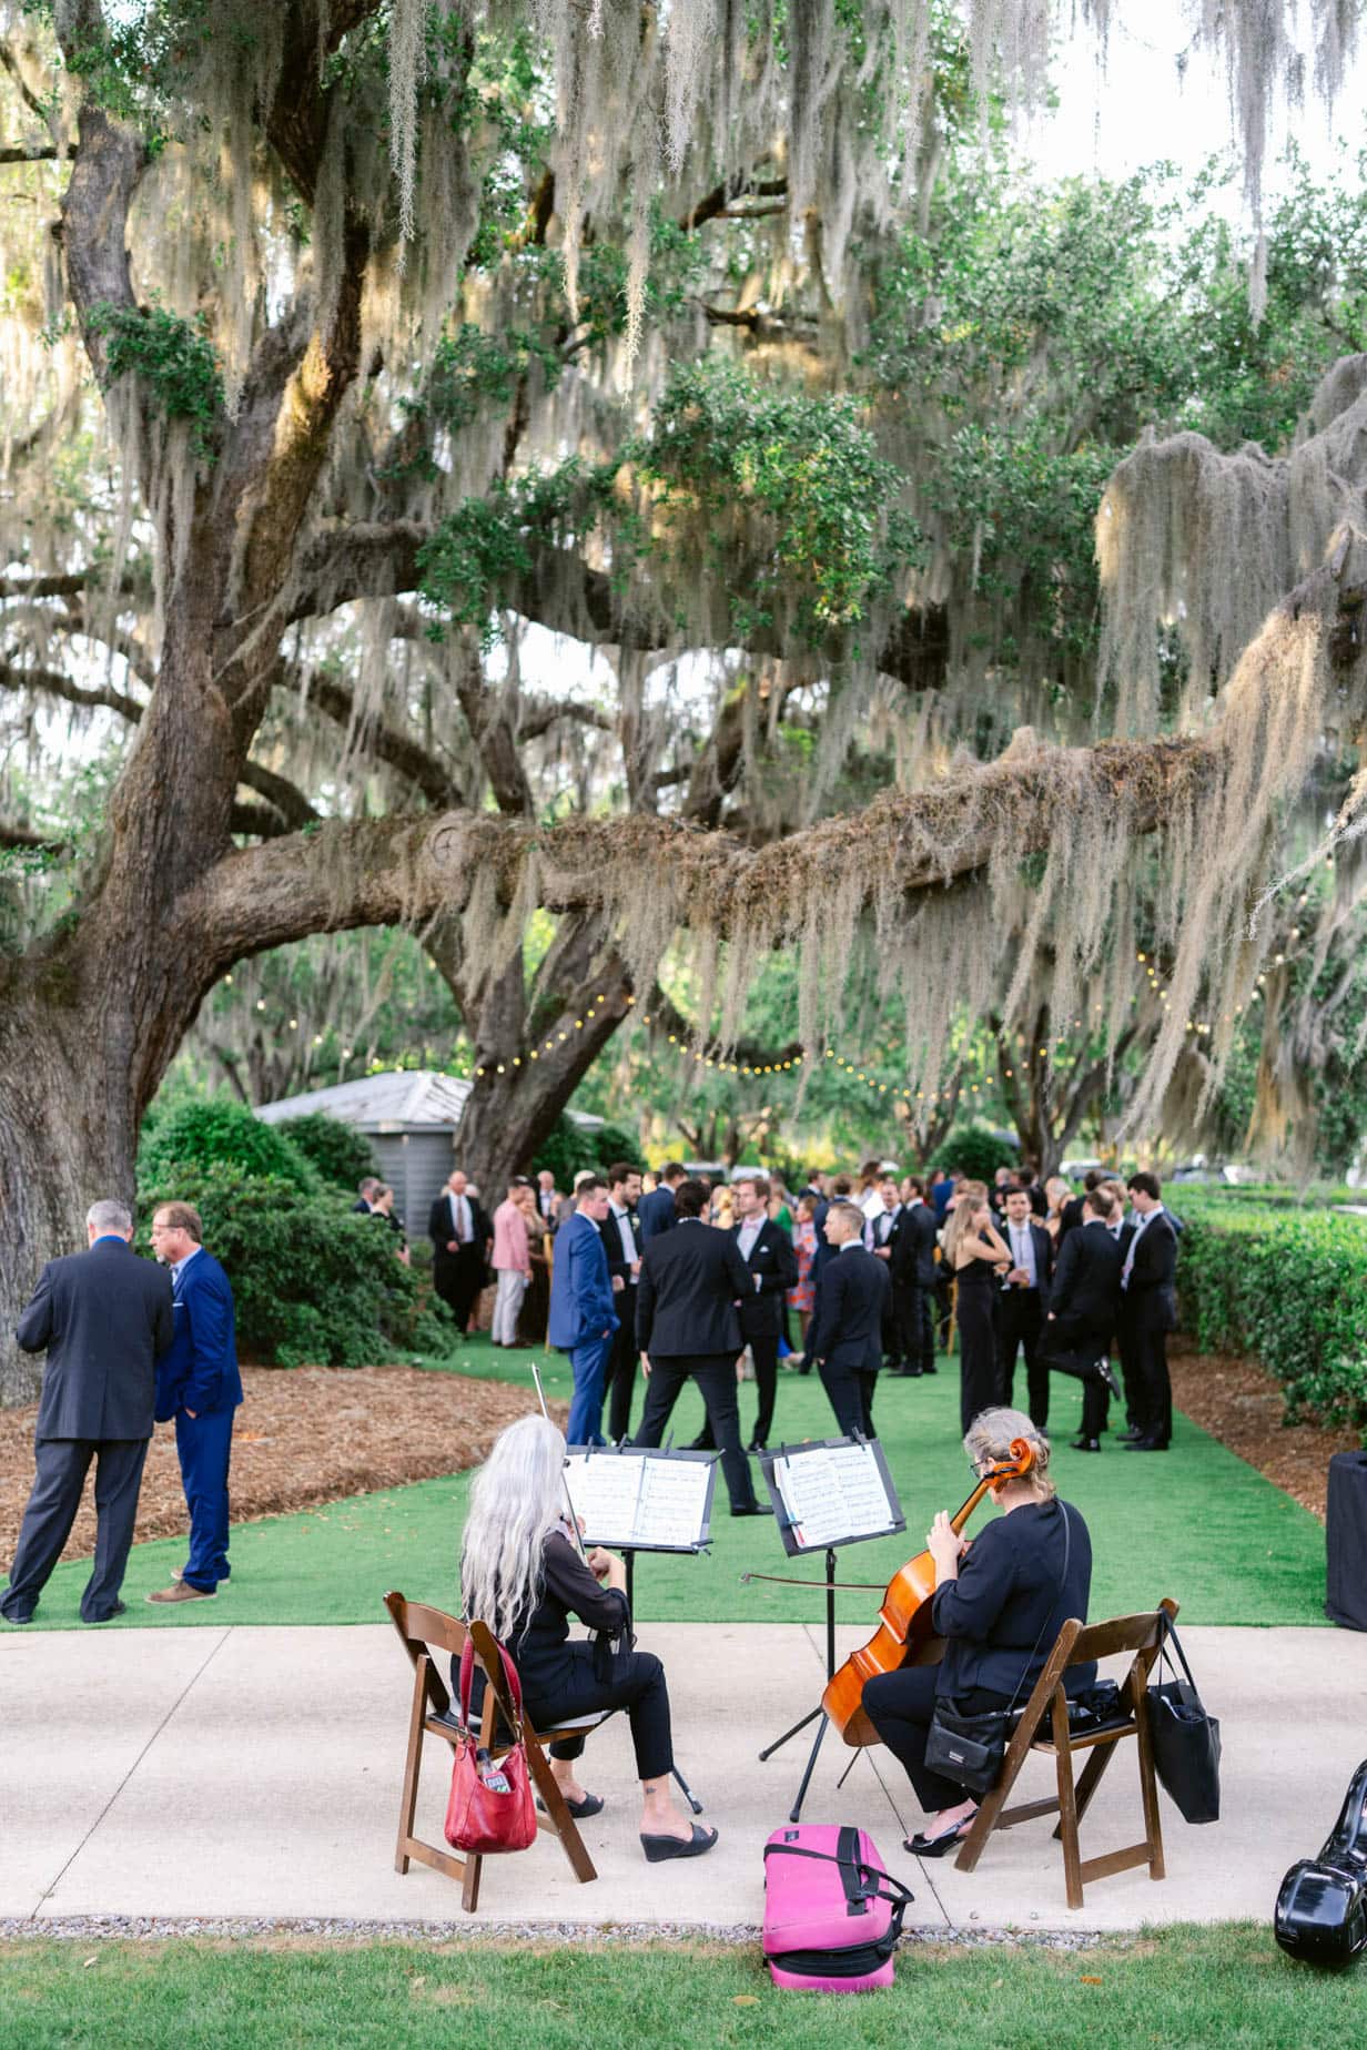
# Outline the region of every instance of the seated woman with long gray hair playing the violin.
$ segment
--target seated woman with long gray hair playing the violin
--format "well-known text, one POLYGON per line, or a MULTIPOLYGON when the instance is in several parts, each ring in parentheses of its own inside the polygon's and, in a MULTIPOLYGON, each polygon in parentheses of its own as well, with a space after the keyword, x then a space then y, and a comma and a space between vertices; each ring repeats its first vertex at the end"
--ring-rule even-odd
MULTIPOLYGON (((676 1806, 664 1667, 631 1650, 627 1568, 594 1546, 580 1558, 566 1517, 566 1441, 545 1417, 521 1417, 494 1441, 469 1494, 461 1542, 465 1619, 480 1617, 519 1669, 533 1728, 625 1708, 641 1781, 641 1849, 650 1863, 701 1857, 717 1841, 676 1806), (594 1640, 570 1638, 578 1615, 594 1640)), ((598 1814, 574 1763, 582 1736, 551 1745, 551 1771, 576 1820, 598 1814)))

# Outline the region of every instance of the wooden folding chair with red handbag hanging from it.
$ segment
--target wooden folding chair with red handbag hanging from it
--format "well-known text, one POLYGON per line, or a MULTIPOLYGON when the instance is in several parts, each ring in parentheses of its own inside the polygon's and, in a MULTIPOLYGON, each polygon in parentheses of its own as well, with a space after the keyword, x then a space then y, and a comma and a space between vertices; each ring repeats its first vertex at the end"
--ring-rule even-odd
MULTIPOLYGON (((488 1747, 490 1757, 498 1759, 510 1749, 512 1738, 508 1732, 516 1724, 498 1646, 488 1624, 473 1622, 465 1628, 465 1624, 457 1622, 455 1615, 447 1615, 443 1609, 430 1609, 420 1601, 406 1601, 404 1595, 385 1595, 385 1607, 414 1667, 412 1710, 408 1716, 408 1753, 404 1757, 404 1796, 400 1802, 400 1841, 393 1855, 393 1870, 408 1872, 410 1857, 416 1857, 418 1863, 430 1865, 434 1872, 445 1872, 449 1880, 461 1882, 461 1906, 473 1915, 480 1904, 480 1872, 484 1857, 457 1857, 451 1851, 439 1851, 434 1843, 424 1843, 422 1837, 414 1835, 414 1818, 418 1812, 422 1738, 441 1736, 447 1745, 451 1745, 451 1749, 455 1749, 457 1738, 457 1712, 453 1710, 447 1683, 437 1671, 432 1652, 447 1652, 447 1656, 459 1658, 465 1648, 465 1640, 469 1638, 475 1652, 475 1665, 486 1679, 480 1742, 488 1747)), ((555 1730, 533 1730, 527 1716, 523 1716, 527 1767, 545 1804, 551 1829, 560 1837, 574 1876, 580 1882, 596 1880, 598 1874, 588 1849, 584 1847, 584 1839, 578 1833, 574 1816, 566 1806, 566 1798, 555 1783, 555 1773, 549 1767, 543 1747, 555 1742, 557 1736, 580 1736, 584 1730, 596 1728, 605 1722, 611 1710, 594 1716, 580 1716, 578 1720, 566 1722, 555 1730)))

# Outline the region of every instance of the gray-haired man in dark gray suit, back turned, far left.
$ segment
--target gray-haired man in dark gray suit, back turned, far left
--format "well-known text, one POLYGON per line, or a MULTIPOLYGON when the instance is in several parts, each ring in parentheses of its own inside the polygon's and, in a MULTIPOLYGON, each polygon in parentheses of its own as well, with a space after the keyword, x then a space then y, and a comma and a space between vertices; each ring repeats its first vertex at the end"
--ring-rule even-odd
POLYGON ((0 1601, 10 1624, 33 1622, 72 1533, 90 1460, 96 1537, 80 1617, 107 1624, 123 1613, 119 1589, 152 1437, 156 1359, 174 1337, 170 1273, 139 1261, 131 1236, 123 1203, 92 1203, 90 1250, 47 1263, 14 1332, 25 1353, 47 1349, 47 1371, 35 1431, 37 1478, 0 1601))

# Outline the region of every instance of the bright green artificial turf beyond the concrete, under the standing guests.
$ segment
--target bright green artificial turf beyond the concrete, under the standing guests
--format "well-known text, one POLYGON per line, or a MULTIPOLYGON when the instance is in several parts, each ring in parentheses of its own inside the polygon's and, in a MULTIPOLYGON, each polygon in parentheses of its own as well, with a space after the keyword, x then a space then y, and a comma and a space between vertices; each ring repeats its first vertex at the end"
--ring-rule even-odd
MULTIPOLYGON (((496 1353, 471 1339, 437 1371, 521 1382, 531 1388, 529 1353, 496 1353)), ((568 1361, 537 1355, 549 1396, 570 1394, 568 1361)), ((1324 1531, 1289 1494, 1275 1488, 1187 1417, 1176 1421, 1172 1451, 1127 1453, 1109 1443, 1101 1458, 1076 1453, 1078 1390, 1055 1382, 1055 1474, 1092 1531, 1092 1615, 1152 1607, 1162 1595, 1180 1601, 1189 1624, 1324 1624, 1324 1531)), ((639 1398, 637 1398, 639 1417, 639 1398)), ((754 1390, 742 1390, 742 1423, 754 1417, 754 1390)), ((816 1376, 781 1376, 779 1427, 789 1439, 826 1437, 830 1408, 816 1376)), ((703 1421, 689 1390, 674 1410, 674 1435, 687 1443, 703 1421)), ((842 1554, 840 1578, 885 1581, 924 1544, 930 1517, 957 1507, 969 1490, 959 1443, 957 1361, 941 1361, 928 1380, 881 1380, 875 1423, 906 1513, 906 1535, 875 1540, 842 1554)), ((211 1624, 375 1624, 379 1597, 398 1587, 414 1599, 457 1607, 457 1550, 469 1476, 426 1480, 361 1494, 328 1509, 242 1523, 232 1533, 234 1578, 217 1601, 187 1609, 148 1607, 184 1558, 184 1540, 137 1546, 123 1597, 127 1615, 105 1628, 184 1628, 211 1624)), ((637 1560, 635 1601, 641 1619, 658 1622, 816 1622, 820 1597, 799 1587, 742 1585, 742 1572, 805 1572, 820 1578, 820 1554, 787 1564, 769 1519, 732 1523, 717 1478, 713 1548, 699 1558, 637 1560)), ((980 1511, 980 1517, 990 1511, 980 1511)), ((969 1527, 971 1529, 971 1527, 969 1527)), ((72 1628, 88 1566, 59 1566, 31 1628, 72 1628)), ((869 1595, 840 1595, 844 1622, 869 1622, 869 1595)))

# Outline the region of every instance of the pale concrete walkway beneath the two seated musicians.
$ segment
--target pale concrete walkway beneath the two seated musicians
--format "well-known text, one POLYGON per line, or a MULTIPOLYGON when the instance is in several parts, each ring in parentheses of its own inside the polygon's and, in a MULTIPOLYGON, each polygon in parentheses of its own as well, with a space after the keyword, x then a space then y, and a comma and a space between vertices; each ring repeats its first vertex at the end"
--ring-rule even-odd
MULTIPOLYGON (((393 1872, 410 1667, 387 1626, 0 1636, 0 1917, 459 1919, 441 1874, 393 1872)), ((867 1632, 842 1632, 842 1650, 867 1632)), ((676 1749, 721 1831, 703 1859, 650 1868, 625 1720, 590 1738, 584 1779, 607 1808, 584 1827, 598 1880, 578 1886, 553 1837, 490 1861, 480 1919, 754 1925, 760 1847, 793 1800, 805 1738, 767 1765, 762 1742, 818 1699, 822 1634, 801 1626, 654 1624, 676 1749)), ((1224 1814, 1189 1829, 1166 1796, 1168 1880, 1144 1870, 1064 1904, 1047 1822, 990 1841, 976 1874, 918 1865, 918 1810, 883 1751, 826 1742, 807 1820, 861 1822, 916 1892, 924 1929, 1133 1929, 1146 1921, 1267 1919, 1285 1868, 1318 1849, 1367 1753, 1367 1636, 1191 1630, 1207 1706, 1224 1722, 1224 1814)), ((426 1749, 420 1829, 441 1841, 449 1751, 426 1749)), ((1051 1788, 1031 1759, 1021 1781, 1051 1788)), ((1133 1745, 1082 1829, 1084 1855, 1140 1837, 1133 1745)))

